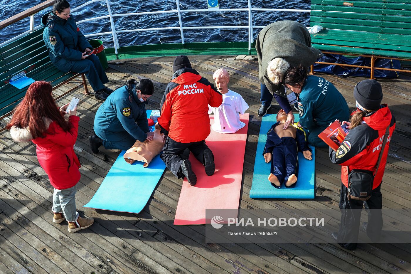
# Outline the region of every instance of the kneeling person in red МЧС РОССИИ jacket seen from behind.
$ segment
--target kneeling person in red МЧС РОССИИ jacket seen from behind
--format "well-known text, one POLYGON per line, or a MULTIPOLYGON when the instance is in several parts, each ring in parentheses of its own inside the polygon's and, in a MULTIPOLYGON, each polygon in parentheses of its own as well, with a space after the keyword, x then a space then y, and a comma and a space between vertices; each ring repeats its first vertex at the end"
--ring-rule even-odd
POLYGON ((194 186, 197 177, 183 153, 189 149, 204 165, 205 174, 214 174, 214 156, 204 141, 210 135, 208 105, 219 107, 223 97, 213 84, 192 69, 187 56, 180 55, 174 59, 173 72, 161 100, 158 118, 161 131, 166 136, 161 158, 178 179, 186 177, 194 186))

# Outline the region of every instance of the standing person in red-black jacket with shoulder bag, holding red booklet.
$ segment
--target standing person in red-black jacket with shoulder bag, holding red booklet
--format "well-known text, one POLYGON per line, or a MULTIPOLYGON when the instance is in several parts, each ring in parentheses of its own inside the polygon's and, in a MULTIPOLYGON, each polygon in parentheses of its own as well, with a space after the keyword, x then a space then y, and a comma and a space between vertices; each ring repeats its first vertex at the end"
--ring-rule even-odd
POLYGON ((339 208, 342 209, 339 232, 332 232, 332 238, 343 248, 353 250, 357 247, 358 228, 360 226, 361 209, 365 205, 368 211, 368 222, 363 223, 362 230, 372 241, 378 241, 383 226, 381 214, 382 194, 381 183, 388 157, 391 136, 395 129, 395 117, 387 104, 381 104, 383 93, 381 85, 376 80, 363 80, 354 88, 357 110, 351 114, 349 133, 341 146, 334 151, 330 148, 332 163, 341 167, 341 192, 339 208), (383 146, 384 135, 388 128, 388 137, 383 146), (383 151, 381 151, 383 149, 383 151), (371 196, 368 200, 349 198, 349 173, 353 170, 361 172, 378 170, 372 181, 371 196), (354 209, 354 210, 352 210, 354 209))

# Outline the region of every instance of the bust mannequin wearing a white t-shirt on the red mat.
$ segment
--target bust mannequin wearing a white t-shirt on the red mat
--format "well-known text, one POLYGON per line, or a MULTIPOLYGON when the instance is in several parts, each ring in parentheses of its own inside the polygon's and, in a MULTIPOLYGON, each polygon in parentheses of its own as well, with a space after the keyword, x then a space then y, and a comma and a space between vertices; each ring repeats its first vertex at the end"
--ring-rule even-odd
POLYGON ((229 73, 224 69, 218 69, 212 76, 218 91, 223 95, 223 103, 219 107, 208 106, 208 114, 214 112, 214 124, 212 130, 219 133, 234 133, 245 126, 240 121, 240 115, 248 109, 248 104, 240 94, 229 90, 229 73))

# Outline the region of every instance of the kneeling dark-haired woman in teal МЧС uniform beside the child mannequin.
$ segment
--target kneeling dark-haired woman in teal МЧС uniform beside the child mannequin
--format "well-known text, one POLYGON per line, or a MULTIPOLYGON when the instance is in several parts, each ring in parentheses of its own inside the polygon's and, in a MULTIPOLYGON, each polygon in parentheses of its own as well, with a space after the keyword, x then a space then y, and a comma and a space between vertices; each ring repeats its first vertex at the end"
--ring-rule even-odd
POLYGON ((302 66, 291 67, 285 73, 283 84, 297 94, 300 125, 309 132, 309 144, 328 147, 318 135, 335 120, 348 121, 348 105, 333 84, 307 74, 302 66))

